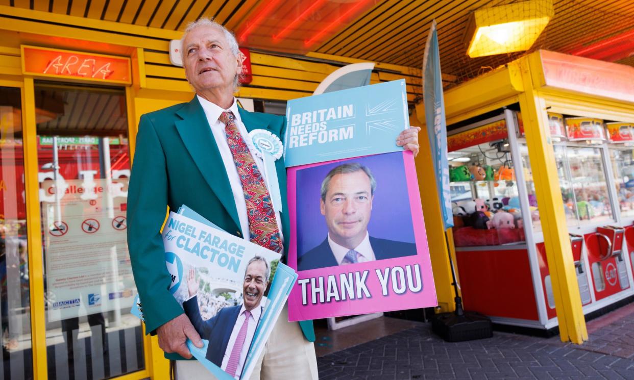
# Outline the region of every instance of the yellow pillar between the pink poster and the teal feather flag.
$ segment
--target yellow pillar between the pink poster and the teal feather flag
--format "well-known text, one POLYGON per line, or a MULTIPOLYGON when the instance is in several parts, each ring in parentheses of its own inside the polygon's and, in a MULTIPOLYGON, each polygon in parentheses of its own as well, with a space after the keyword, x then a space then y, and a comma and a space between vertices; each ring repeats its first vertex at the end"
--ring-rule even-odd
MULTIPOLYGON (((447 244, 444 237, 443 214, 441 213, 440 200, 436 189, 434 164, 425 127, 425 112, 422 103, 416 106, 410 117, 411 125, 421 125, 418 134, 420 151, 416 157, 416 174, 420 200, 423 206, 425 219, 425 232, 429 243, 429 257, 434 272, 436 284, 436 297, 441 312, 453 312, 455 310, 455 292, 451 286, 451 267, 448 258, 447 244)), ((451 232, 451 231, 450 231, 451 232)), ((455 258, 454 258, 455 259, 455 258)))

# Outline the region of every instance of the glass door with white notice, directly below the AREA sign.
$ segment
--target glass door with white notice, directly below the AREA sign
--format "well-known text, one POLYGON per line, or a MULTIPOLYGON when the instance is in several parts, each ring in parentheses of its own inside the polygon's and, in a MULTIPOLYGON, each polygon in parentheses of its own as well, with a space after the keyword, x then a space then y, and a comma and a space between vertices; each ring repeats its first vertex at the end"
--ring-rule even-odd
POLYGON ((130 156, 123 89, 36 82, 37 158, 49 379, 144 368, 129 313, 130 156))

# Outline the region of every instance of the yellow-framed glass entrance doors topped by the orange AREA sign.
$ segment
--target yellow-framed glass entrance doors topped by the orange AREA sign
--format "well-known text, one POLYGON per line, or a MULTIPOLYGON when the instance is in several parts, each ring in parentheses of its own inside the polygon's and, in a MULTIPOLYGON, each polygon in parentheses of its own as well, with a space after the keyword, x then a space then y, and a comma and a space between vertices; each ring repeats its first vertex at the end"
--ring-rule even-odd
POLYGON ((0 377, 149 377, 151 344, 129 314, 131 60, 18 50, 21 75, 0 75, 0 377))

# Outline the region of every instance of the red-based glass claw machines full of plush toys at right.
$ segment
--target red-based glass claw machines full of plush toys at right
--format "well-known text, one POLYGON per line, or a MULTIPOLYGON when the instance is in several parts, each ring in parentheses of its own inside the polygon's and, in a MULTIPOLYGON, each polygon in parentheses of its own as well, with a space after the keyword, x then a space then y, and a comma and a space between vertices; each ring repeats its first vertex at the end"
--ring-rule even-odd
MULTIPOLYGON (((634 295, 633 126, 548 113, 584 314, 634 295)), ((465 309, 552 329, 555 301, 521 114, 448 127, 465 309)))

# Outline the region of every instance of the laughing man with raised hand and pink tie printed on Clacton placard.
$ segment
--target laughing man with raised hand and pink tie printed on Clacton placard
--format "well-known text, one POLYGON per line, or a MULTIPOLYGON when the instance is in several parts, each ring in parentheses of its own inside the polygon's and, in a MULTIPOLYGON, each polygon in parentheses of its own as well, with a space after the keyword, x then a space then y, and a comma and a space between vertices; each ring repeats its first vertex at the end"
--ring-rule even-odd
POLYGON ((271 270, 263 257, 247 263, 242 283, 242 305, 224 307, 208 320, 202 320, 198 309, 198 281, 193 269, 187 277, 190 295, 183 302, 185 314, 202 338, 209 339, 207 360, 236 378, 240 377, 249 346, 262 316, 260 301, 271 270))

